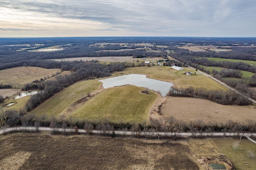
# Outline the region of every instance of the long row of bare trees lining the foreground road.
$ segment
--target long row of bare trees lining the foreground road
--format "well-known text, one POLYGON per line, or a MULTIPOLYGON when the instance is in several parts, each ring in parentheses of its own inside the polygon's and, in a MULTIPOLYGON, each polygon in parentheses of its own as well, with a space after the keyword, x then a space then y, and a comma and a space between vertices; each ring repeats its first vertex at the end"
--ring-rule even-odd
MULTIPOLYGON (((0 109, 1 111, 1 109, 0 109)), ((78 128, 84 128, 89 134, 92 130, 99 130, 101 134, 105 135, 115 135, 113 130, 120 130, 123 132, 132 131, 135 136, 147 136, 148 132, 165 132, 166 136, 175 137, 180 132, 192 132, 192 135, 207 133, 207 136, 211 136, 213 132, 224 132, 238 134, 239 132, 256 132, 256 121, 247 119, 245 122, 234 122, 228 120, 222 123, 216 122, 204 122, 200 119, 196 121, 184 122, 175 119, 174 117, 160 118, 160 119, 150 119, 149 122, 143 121, 142 123, 115 123, 104 120, 84 120, 84 119, 74 119, 72 117, 64 118, 64 116, 56 117, 46 117, 45 115, 36 116, 28 115, 21 116, 18 111, 4 111, 4 119, 0 112, 0 123, 3 120, 10 127, 15 127, 23 125, 24 127, 34 126, 34 127, 51 127, 54 134, 58 134, 59 129, 63 129, 64 133, 70 133, 68 128, 74 128, 73 132, 78 132, 78 128), (75 131, 76 130, 76 131, 75 131), (170 132, 167 135, 167 132, 170 132)), ((151 134, 152 135, 152 134, 151 134)), ((147 136, 150 137, 150 136, 147 136)))

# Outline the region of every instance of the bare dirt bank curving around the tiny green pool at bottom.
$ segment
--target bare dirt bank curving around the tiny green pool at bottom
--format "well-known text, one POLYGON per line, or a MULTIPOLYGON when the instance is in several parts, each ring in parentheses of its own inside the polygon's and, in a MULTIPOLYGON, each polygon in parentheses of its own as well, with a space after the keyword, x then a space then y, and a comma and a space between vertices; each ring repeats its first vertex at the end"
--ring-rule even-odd
POLYGON ((207 169, 207 170, 213 170, 213 168, 209 165, 210 163, 224 165, 227 170, 235 170, 233 164, 230 162, 230 160, 226 158, 212 158, 212 157, 205 158, 204 156, 201 156, 198 158, 198 163, 202 167, 204 167, 204 169, 207 169))

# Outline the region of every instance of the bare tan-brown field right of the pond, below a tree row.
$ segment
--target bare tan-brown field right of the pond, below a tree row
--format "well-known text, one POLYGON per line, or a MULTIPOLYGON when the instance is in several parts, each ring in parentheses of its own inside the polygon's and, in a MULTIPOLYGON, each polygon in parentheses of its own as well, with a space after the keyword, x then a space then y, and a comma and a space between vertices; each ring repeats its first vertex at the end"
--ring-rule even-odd
POLYGON ((256 120, 255 106, 220 105, 212 101, 190 97, 166 97, 161 107, 163 117, 173 116, 183 121, 207 122, 256 120))

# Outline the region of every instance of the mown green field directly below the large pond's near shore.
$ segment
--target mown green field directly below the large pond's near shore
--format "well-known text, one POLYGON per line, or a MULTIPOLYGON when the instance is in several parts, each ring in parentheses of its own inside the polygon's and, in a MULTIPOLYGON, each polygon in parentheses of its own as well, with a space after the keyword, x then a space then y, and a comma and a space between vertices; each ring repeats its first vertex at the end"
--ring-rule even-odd
POLYGON ((141 122, 148 113, 156 93, 142 94, 143 88, 134 85, 105 89, 74 111, 71 116, 79 119, 110 119, 111 121, 141 122))

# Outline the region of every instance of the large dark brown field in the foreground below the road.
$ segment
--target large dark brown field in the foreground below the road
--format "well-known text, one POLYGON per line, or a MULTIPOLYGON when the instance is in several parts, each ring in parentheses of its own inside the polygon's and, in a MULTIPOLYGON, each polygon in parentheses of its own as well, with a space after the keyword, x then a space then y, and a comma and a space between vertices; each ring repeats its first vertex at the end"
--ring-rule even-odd
POLYGON ((203 170, 209 167, 201 156, 221 161, 212 139, 169 141, 49 133, 2 135, 0 169, 203 170))

